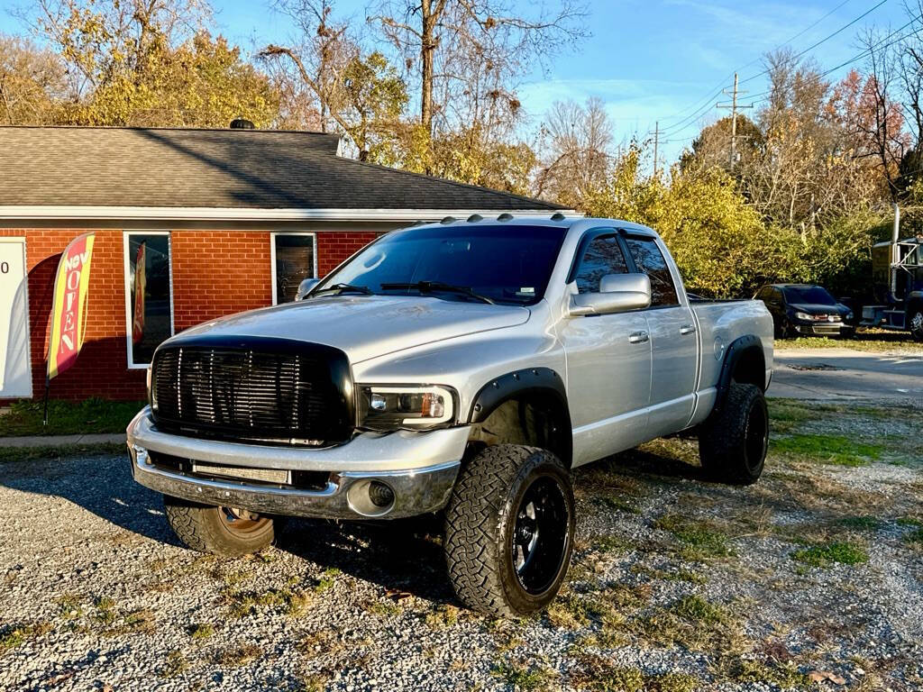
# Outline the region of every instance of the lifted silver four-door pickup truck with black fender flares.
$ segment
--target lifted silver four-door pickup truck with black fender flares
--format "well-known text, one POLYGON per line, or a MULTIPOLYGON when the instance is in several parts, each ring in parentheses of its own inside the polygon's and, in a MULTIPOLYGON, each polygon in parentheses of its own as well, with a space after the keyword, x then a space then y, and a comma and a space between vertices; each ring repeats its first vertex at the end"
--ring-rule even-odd
POLYGON ((196 550, 256 551, 285 515, 442 512, 459 598, 518 616, 567 572, 570 469, 694 428, 714 480, 761 474, 773 320, 690 298, 649 228, 446 219, 306 288, 154 355, 132 472, 196 550))

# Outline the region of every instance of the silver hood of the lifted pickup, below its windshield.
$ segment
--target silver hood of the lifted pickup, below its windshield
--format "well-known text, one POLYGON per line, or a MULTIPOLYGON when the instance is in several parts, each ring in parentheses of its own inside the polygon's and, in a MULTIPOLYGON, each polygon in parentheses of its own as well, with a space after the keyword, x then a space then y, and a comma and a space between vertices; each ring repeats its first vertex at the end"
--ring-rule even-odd
POLYGON ((433 341, 515 327, 530 311, 516 305, 446 301, 418 295, 336 295, 250 310, 205 322, 171 343, 197 337, 276 337, 341 349, 352 363, 433 341))

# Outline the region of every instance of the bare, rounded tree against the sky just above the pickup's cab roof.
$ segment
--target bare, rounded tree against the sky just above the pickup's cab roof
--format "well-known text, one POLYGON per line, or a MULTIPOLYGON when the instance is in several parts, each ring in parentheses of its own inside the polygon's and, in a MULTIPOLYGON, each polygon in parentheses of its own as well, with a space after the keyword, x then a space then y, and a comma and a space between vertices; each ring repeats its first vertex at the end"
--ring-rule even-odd
POLYGON ((544 161, 535 179, 535 194, 569 207, 605 185, 612 161, 612 125, 603 101, 585 105, 556 101, 542 124, 544 161))

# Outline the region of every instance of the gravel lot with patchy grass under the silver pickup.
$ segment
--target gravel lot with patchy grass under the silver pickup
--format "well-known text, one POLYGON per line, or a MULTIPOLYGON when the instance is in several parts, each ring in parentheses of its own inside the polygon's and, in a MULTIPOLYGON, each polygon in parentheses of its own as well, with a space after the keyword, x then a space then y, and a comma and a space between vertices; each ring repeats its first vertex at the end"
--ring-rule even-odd
POLYGON ((569 586, 525 622, 456 607, 426 522, 293 520, 217 559, 126 459, 0 464, 0 687, 920 689, 923 412, 773 422, 749 488, 678 437, 576 471, 569 586))

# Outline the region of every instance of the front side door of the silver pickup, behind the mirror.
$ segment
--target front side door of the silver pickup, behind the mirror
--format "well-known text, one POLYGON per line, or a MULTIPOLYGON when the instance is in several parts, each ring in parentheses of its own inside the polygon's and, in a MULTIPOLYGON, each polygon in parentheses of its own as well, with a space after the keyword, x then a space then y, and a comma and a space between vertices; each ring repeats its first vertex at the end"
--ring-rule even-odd
MULTIPOLYGON (((629 271, 615 231, 588 235, 577 252, 570 280, 578 292, 598 292, 606 274, 629 271)), ((647 439, 651 342, 644 313, 571 316, 559 337, 568 362, 574 465, 647 439)))

